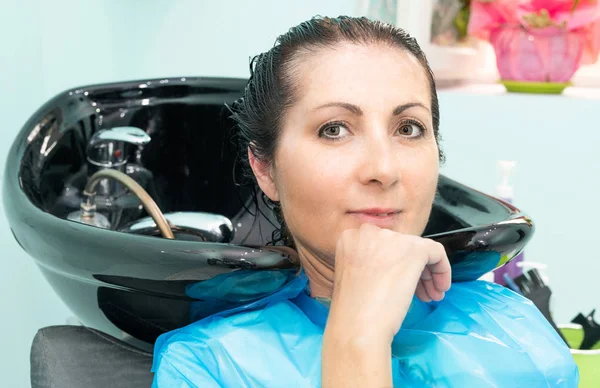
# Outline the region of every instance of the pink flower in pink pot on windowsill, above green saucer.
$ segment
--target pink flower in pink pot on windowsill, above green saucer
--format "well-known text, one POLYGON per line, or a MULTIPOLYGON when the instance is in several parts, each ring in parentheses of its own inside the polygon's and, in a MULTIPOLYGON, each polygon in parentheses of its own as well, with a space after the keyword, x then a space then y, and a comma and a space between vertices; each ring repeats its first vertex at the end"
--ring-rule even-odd
POLYGON ((471 0, 468 34, 489 41, 503 81, 568 83, 600 51, 599 0, 471 0))

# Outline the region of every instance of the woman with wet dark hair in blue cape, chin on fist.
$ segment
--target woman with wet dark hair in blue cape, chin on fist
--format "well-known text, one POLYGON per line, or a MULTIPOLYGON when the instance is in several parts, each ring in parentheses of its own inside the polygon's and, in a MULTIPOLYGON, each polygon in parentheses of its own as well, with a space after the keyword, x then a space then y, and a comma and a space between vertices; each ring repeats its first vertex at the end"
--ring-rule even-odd
MULTIPOLYGON (((444 248, 420 237, 442 152, 435 84, 415 40, 365 18, 314 18, 253 60, 232 112, 303 271, 258 303, 159 338, 154 385, 486 386, 476 359, 459 363, 464 373, 438 368, 426 360, 433 342, 397 336, 429 306, 442 311, 451 282, 444 248)), ((534 362, 544 371, 526 386, 576 386, 566 347, 543 319, 531 323, 554 369, 534 362)))

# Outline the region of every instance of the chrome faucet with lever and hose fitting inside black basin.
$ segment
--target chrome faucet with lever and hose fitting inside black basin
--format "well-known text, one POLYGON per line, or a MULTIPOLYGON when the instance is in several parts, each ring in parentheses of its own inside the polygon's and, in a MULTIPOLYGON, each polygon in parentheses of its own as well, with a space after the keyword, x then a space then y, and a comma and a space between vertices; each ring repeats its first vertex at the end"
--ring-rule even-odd
MULTIPOLYGON (((115 127, 98 131, 87 146, 88 177, 96 171, 110 168, 125 172, 131 149, 137 146, 136 155, 150 142, 150 136, 136 127, 115 127)), ((103 179, 97 187, 97 195, 114 196, 124 188, 116 180, 103 179)))

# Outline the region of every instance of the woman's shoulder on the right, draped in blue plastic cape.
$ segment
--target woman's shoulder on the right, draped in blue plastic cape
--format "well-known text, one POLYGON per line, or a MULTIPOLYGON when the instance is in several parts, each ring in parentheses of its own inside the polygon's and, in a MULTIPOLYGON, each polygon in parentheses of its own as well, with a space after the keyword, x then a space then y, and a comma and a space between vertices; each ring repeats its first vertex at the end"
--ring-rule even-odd
POLYGON ((568 347, 523 295, 474 281, 452 284, 440 302, 414 304, 408 317, 416 318, 392 344, 401 361, 399 374, 408 383, 577 386, 577 365, 568 347))

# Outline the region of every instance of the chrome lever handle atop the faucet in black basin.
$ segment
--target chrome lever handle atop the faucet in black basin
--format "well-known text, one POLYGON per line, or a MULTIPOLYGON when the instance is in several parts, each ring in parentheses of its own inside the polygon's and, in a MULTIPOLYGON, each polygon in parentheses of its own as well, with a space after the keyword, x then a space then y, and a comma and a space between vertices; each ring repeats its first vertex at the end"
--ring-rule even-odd
POLYGON ((119 169, 129 158, 126 145, 142 147, 150 142, 150 136, 136 127, 103 129, 92 136, 87 146, 87 159, 99 168, 119 169))

